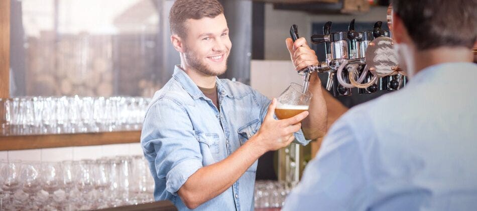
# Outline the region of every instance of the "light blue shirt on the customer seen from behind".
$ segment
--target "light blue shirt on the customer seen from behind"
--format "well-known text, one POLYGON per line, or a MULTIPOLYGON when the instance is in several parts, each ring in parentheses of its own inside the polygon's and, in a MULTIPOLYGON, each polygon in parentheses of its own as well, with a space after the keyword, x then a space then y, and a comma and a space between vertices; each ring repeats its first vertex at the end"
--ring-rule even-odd
POLYGON ((283 210, 477 209, 477 65, 417 73, 331 127, 283 210))

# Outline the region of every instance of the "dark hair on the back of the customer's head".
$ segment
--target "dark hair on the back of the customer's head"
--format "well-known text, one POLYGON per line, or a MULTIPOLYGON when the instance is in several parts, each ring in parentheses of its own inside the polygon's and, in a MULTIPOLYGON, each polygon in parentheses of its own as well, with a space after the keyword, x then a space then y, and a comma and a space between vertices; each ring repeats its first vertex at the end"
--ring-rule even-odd
POLYGON ((477 38, 477 0, 393 0, 418 50, 472 48, 477 38))

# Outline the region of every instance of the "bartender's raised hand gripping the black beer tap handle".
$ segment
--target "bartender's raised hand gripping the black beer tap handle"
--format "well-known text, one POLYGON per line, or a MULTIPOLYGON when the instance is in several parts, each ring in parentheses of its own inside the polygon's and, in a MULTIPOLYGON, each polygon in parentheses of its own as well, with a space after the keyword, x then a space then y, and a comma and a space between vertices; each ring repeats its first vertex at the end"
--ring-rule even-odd
POLYGON ((293 43, 291 38, 287 38, 286 43, 293 65, 295 65, 297 71, 318 64, 318 57, 315 51, 310 49, 305 38, 300 38, 295 43, 293 43))

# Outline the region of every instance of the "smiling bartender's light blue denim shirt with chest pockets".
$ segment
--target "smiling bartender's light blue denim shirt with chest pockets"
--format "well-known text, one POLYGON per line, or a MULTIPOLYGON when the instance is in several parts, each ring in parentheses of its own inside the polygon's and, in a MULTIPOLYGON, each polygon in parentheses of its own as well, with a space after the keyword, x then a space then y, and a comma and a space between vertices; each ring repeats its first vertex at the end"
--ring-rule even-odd
MULTIPOLYGON (((189 210, 177 191, 195 171, 218 162, 260 128, 270 99, 250 86, 216 79, 219 110, 178 66, 156 92, 144 120, 141 145, 155 180, 154 198, 189 210)), ((302 131, 295 134, 307 144, 302 131)), ((233 168, 233 166, 230 166, 233 168)), ((253 210, 257 161, 227 190, 195 210, 253 210)))

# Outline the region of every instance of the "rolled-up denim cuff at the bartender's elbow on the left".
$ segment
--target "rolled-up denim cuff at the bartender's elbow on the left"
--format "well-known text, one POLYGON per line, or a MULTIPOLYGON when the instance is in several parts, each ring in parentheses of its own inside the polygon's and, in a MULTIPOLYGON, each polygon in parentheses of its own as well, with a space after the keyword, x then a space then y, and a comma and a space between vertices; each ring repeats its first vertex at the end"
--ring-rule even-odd
POLYGON ((199 159, 187 159, 172 168, 166 175, 166 190, 173 195, 177 195, 179 188, 187 179, 202 167, 199 159))

